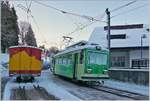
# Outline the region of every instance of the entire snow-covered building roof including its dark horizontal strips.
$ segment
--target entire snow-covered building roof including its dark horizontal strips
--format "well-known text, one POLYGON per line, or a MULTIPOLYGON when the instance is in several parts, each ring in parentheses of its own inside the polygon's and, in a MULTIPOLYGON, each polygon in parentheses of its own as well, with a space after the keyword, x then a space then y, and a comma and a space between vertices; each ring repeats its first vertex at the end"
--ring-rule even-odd
MULTIPOLYGON (((90 43, 97 43, 100 46, 107 46, 107 27, 96 27, 90 38, 90 43)), ((144 47, 149 47, 149 29, 144 24, 132 25, 115 25, 111 26, 111 48, 131 48, 141 46, 141 37, 143 34, 146 38, 142 38, 144 47)))

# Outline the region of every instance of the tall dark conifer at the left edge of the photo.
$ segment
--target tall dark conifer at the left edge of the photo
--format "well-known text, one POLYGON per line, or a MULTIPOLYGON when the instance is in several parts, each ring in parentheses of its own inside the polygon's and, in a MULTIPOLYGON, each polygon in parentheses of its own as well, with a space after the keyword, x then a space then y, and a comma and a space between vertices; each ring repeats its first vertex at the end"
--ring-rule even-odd
POLYGON ((1 51, 4 53, 10 46, 18 45, 19 28, 14 7, 8 1, 1 1, 1 51))

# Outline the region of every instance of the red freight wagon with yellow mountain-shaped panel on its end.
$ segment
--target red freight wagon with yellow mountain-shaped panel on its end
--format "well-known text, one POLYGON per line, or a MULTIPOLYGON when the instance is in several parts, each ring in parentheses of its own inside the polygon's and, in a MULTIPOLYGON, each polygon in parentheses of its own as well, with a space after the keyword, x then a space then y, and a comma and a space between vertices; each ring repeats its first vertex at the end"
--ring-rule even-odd
POLYGON ((12 46, 9 48, 9 76, 16 76, 18 82, 41 75, 42 50, 33 46, 12 46))

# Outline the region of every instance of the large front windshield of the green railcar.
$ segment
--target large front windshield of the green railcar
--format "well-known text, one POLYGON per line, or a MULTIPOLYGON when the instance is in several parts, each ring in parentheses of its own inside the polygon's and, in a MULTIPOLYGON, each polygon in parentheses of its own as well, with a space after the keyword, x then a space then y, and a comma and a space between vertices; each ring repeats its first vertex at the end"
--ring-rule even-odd
POLYGON ((106 65, 107 55, 96 52, 88 52, 88 64, 106 65))

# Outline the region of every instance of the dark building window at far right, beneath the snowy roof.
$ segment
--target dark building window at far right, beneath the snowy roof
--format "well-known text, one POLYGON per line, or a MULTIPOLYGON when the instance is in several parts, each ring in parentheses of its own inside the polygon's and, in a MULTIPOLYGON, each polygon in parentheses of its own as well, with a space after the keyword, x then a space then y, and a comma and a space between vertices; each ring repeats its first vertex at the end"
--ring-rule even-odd
POLYGON ((133 59, 132 67, 149 67, 148 59, 133 59))

